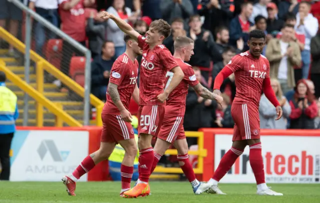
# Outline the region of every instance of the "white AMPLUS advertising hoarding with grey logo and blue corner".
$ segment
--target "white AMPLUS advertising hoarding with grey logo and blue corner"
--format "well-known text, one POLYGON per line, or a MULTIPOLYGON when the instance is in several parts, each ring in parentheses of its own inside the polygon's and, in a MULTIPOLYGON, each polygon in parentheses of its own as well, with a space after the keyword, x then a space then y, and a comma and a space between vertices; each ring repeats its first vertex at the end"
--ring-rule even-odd
MULTIPOLYGON (((60 181, 88 155, 88 131, 17 130, 11 149, 11 181, 60 181)), ((86 181, 86 174, 80 181, 86 181)))

